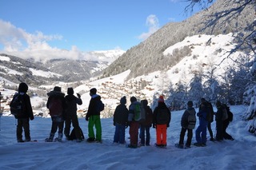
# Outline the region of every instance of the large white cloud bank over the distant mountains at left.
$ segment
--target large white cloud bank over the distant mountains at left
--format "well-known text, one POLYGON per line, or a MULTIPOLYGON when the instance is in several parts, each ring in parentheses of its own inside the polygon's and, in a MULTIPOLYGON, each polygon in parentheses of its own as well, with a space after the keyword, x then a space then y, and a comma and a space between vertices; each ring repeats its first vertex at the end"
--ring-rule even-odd
POLYGON ((0 19, 0 44, 3 50, 0 53, 7 53, 22 58, 33 57, 35 60, 45 61, 53 58, 86 59, 94 60, 88 53, 82 53, 75 45, 71 50, 58 49, 50 46, 47 42, 53 40, 62 41, 61 35, 45 35, 40 31, 29 34, 13 26, 10 22, 0 19))

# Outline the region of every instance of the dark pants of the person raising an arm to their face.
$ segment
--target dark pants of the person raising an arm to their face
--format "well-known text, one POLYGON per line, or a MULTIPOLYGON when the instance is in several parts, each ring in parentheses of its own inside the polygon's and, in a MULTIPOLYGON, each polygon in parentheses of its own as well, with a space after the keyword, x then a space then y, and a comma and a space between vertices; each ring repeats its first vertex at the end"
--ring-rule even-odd
POLYGON ((82 140, 82 134, 81 134, 81 130, 80 130, 80 127, 79 127, 78 115, 77 114, 71 114, 71 115, 68 115, 66 117, 65 128, 64 128, 65 136, 67 138, 69 138, 69 136, 70 136, 71 122, 72 122, 72 125, 74 127, 74 133, 75 133, 76 139, 82 140))

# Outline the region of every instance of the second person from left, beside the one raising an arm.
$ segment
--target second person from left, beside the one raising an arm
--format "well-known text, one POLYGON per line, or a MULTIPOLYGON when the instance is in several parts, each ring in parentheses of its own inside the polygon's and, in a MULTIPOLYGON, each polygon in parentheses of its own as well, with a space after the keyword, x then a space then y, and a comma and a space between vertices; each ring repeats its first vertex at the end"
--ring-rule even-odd
POLYGON ((62 89, 59 86, 55 86, 53 91, 47 93, 48 100, 46 103, 47 109, 51 117, 52 125, 49 138, 46 138, 46 142, 52 142, 54 140, 55 132, 58 130, 58 141, 62 141, 63 128, 64 128, 64 110, 66 109, 65 94, 62 93, 62 89))

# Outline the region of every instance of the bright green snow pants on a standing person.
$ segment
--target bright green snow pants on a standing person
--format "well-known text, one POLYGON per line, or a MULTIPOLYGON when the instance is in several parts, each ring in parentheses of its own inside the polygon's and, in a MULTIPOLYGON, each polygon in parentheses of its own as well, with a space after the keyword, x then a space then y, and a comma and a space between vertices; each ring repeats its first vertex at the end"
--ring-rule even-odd
POLYGON ((99 115, 91 115, 88 122, 88 136, 98 141, 102 141, 102 124, 99 115), (96 128, 96 138, 94 135, 94 125, 96 128))

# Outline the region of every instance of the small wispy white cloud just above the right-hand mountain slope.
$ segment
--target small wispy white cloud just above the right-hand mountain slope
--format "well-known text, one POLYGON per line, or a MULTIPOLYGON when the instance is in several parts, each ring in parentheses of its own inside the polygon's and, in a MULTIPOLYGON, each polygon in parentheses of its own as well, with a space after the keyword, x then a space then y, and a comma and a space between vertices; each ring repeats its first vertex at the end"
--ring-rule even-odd
POLYGON ((159 29, 158 18, 154 14, 150 14, 150 16, 146 18, 146 26, 149 27, 148 32, 138 36, 141 40, 146 40, 146 38, 149 38, 151 34, 154 34, 154 32, 159 29))

